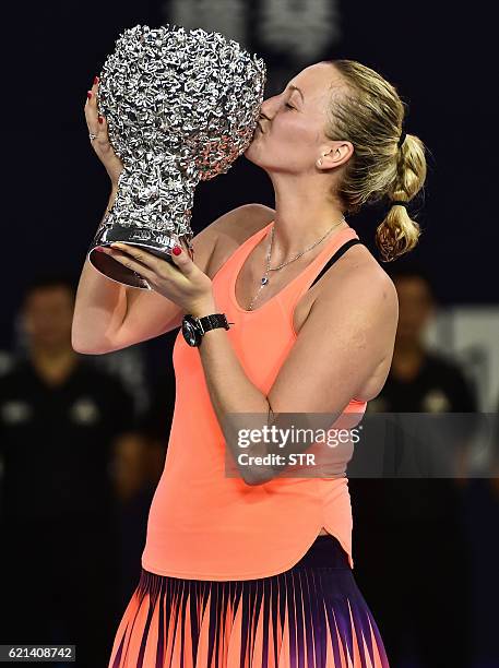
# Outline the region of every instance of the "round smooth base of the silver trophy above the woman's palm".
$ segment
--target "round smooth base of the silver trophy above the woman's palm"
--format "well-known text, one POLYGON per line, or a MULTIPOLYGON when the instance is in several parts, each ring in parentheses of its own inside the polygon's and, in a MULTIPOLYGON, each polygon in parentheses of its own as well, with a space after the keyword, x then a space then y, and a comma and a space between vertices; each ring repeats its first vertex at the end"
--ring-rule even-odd
POLYGON ((115 242, 128 243, 142 248, 148 253, 174 264, 171 259, 171 249, 174 246, 182 246, 189 253, 191 260, 193 260, 193 249, 190 243, 191 238, 192 232, 190 235, 169 236, 166 232, 151 229, 138 229, 136 227, 114 225, 112 227, 103 227, 103 229, 97 232, 92 242, 87 258, 92 266, 107 278, 130 287, 151 290, 152 288, 148 283, 139 273, 126 267, 121 262, 118 262, 118 260, 115 260, 107 253, 99 252, 96 250, 97 247, 106 247, 115 242))

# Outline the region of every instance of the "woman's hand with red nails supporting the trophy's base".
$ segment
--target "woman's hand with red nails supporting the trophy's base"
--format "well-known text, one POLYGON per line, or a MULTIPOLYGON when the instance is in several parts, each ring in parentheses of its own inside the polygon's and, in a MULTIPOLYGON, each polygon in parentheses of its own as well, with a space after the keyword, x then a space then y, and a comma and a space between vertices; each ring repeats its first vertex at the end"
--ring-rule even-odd
POLYGON ((185 313, 202 317, 214 312, 212 279, 185 249, 180 248, 178 255, 171 253, 174 264, 129 243, 115 242, 100 250, 140 274, 153 290, 174 301, 185 313))

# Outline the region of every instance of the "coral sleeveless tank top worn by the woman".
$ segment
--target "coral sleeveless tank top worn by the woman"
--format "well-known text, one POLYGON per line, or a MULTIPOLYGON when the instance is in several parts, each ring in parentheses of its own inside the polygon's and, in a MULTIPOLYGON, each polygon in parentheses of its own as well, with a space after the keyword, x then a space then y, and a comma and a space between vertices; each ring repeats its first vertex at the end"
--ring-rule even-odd
MULTIPOLYGON (((328 260, 349 239, 352 227, 325 242, 313 261, 277 295, 246 311, 235 294, 246 258, 270 232, 273 220, 249 237, 213 277, 217 310, 233 322, 230 344, 249 380, 265 395, 297 334, 293 313, 328 260)), ((212 407, 200 351, 183 339, 173 351, 176 402, 162 477, 148 520, 142 566, 189 580, 253 580, 293 568, 322 527, 352 558, 352 505, 346 475, 335 478, 278 477, 247 485, 225 474, 225 439, 212 407)), ((366 402, 352 399, 343 413, 366 402)), ((345 463, 346 468, 346 463, 345 463)))

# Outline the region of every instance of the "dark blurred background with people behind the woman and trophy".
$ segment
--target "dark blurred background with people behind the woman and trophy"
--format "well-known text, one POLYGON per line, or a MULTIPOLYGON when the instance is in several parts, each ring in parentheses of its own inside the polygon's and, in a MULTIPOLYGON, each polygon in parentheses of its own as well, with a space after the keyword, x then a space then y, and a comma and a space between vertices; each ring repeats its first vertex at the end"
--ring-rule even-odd
MULTIPOLYGON (((494 413, 492 5, 73 0, 8 12, 0 479, 10 503, 1 509, 0 643, 72 642, 78 665, 104 666, 136 585, 164 464, 177 335, 105 356, 70 346, 74 285, 109 194, 83 106, 115 39, 138 23, 217 29, 265 59, 266 96, 329 58, 359 60, 392 82, 408 105, 407 132, 428 147, 428 179, 413 205, 424 229, 418 248, 383 263, 396 279, 401 329, 390 378, 369 409, 494 413), (47 361, 55 350, 57 368, 47 361)), ((246 202, 273 206, 273 191, 241 157, 199 186, 194 231, 246 202)), ((348 220, 379 260, 383 214, 379 204, 348 220)), ((489 470, 476 461, 473 479, 431 491, 351 480, 355 575, 395 668, 499 665, 499 492, 489 470), (421 494, 431 504, 415 508, 421 494), (412 512, 393 513, 401 503, 412 512)))

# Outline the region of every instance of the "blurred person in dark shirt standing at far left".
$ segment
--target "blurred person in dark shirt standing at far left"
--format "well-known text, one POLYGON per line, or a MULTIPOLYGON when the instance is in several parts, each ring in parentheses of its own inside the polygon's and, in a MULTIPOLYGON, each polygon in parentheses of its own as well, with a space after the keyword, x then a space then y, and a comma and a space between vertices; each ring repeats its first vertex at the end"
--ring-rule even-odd
POLYGON ((112 443, 134 411, 121 383, 73 350, 74 299, 66 276, 28 286, 27 357, 0 378, 0 633, 3 644, 75 644, 91 667, 105 663, 116 609, 112 443))

